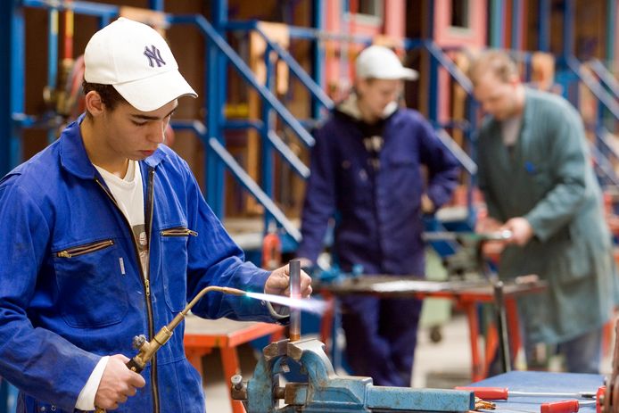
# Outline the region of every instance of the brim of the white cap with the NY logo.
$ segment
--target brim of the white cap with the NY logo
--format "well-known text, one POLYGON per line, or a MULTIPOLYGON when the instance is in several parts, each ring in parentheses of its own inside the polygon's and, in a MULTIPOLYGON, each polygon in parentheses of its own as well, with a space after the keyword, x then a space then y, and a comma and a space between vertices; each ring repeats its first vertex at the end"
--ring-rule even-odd
POLYGON ((138 111, 151 112, 181 96, 197 97, 178 70, 169 70, 150 78, 142 78, 113 87, 138 111))

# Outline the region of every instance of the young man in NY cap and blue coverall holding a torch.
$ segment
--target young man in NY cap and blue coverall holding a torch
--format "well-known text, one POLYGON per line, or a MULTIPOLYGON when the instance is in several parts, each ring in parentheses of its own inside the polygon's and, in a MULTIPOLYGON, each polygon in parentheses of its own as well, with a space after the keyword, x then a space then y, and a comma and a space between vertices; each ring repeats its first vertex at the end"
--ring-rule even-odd
MULTIPOLYGON (((196 96, 165 40, 121 18, 85 62, 86 114, 0 181, 0 376, 20 388, 20 412, 203 412, 183 325, 142 375, 125 366, 132 337, 153 337, 208 285, 286 293, 288 269, 243 262, 186 161, 161 145, 177 98, 196 96)), ((278 317, 221 293, 193 312, 278 317)))

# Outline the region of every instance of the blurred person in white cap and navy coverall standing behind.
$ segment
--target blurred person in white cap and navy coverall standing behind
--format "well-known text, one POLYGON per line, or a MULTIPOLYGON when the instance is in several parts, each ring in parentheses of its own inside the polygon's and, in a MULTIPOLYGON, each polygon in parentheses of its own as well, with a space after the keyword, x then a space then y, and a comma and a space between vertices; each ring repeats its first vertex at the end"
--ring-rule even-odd
MULTIPOLYGON (((398 104, 402 80, 416 77, 390 49, 373 45, 359 54, 355 91, 318 130, 311 153, 297 251, 307 263, 317 260, 336 214, 333 252, 343 271, 361 264, 366 274, 424 276, 422 213, 450 199, 458 164, 432 126, 398 104)), ((421 301, 356 296, 342 303, 352 373, 409 386, 421 301)))

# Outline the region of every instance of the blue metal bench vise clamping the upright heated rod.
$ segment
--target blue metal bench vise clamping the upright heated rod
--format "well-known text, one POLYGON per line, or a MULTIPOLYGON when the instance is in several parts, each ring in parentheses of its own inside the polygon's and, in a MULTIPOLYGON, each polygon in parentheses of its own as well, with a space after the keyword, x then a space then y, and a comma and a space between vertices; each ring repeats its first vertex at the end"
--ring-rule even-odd
POLYGON ((324 344, 309 339, 271 343, 251 380, 232 377, 232 398, 247 413, 325 412, 466 412, 475 409, 474 392, 377 386, 371 377, 340 377, 326 357, 324 344), (280 384, 279 373, 292 359, 307 382, 280 384), (280 406, 280 401, 284 405, 280 406))

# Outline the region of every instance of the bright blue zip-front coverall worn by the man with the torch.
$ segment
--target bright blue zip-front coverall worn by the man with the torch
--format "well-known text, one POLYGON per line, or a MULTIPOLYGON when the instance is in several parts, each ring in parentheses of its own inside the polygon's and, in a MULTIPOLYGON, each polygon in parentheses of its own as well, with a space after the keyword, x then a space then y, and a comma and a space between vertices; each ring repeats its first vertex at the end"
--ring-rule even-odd
MULTIPOLYGON (((20 412, 72 412, 103 355, 134 356, 135 335, 152 337, 205 286, 263 291, 268 272, 243 262, 186 162, 161 145, 139 166, 148 278, 78 122, 0 181, 0 376, 21 389, 20 412)), ((193 312, 274 321, 259 301, 221 293, 207 293, 193 312)), ((144 369, 145 387, 115 411, 204 411, 183 331, 181 324, 144 369)))

